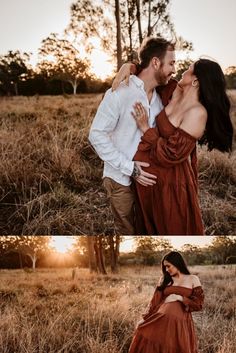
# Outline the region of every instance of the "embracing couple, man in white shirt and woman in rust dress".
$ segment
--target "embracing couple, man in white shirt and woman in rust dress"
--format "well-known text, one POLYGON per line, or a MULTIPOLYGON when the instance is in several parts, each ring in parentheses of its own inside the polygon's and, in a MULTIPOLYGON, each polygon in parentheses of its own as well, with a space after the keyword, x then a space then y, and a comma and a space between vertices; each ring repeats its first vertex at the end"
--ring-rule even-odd
POLYGON ((224 74, 199 59, 177 83, 174 44, 161 37, 147 39, 139 57, 120 69, 89 134, 104 161, 116 231, 202 235, 196 144, 232 148, 224 74))

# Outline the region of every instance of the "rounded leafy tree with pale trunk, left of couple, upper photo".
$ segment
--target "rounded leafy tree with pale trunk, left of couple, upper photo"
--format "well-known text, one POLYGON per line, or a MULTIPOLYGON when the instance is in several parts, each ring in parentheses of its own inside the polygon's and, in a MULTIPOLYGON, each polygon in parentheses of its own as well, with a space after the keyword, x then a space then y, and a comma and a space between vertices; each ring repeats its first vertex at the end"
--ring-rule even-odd
POLYGON ((69 82, 74 94, 81 80, 89 75, 88 61, 80 58, 69 40, 60 39, 55 33, 42 41, 39 55, 43 59, 38 65, 40 71, 51 79, 69 82))

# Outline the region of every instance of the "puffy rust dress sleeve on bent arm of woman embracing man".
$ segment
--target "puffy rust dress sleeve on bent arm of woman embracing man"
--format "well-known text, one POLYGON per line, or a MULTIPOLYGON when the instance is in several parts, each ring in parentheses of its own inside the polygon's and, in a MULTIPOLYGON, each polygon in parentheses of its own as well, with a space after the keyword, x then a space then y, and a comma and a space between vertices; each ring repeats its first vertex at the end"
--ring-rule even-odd
POLYGON ((161 137, 156 128, 150 128, 142 136, 138 149, 149 150, 155 164, 171 168, 186 160, 195 147, 195 138, 180 128, 176 128, 169 138, 161 137))

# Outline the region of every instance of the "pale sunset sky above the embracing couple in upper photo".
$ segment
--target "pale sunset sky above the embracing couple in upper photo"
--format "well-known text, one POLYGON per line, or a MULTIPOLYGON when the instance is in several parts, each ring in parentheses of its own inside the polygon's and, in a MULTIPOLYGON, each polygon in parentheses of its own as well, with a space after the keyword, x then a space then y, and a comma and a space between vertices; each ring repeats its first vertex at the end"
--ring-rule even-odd
MULTIPOLYGON (((70 18, 73 0, 0 0, 0 54, 8 50, 34 53, 50 33, 62 33, 70 18)), ((172 0, 171 16, 179 35, 193 42, 193 59, 210 56, 223 68, 236 65, 236 1, 172 0)), ((177 56, 178 58, 178 56, 177 56)), ((105 77, 112 66, 96 50, 93 70, 105 77)))

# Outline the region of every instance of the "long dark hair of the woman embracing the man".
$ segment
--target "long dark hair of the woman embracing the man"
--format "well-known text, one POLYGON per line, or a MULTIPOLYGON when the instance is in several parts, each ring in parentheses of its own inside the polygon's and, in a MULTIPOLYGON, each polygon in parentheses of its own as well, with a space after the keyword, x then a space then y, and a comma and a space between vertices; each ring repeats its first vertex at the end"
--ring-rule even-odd
POLYGON ((207 145, 210 151, 216 148, 229 152, 232 150, 233 125, 223 71, 216 62, 200 59, 194 63, 193 72, 199 81, 199 100, 208 114, 206 130, 199 143, 207 145))

